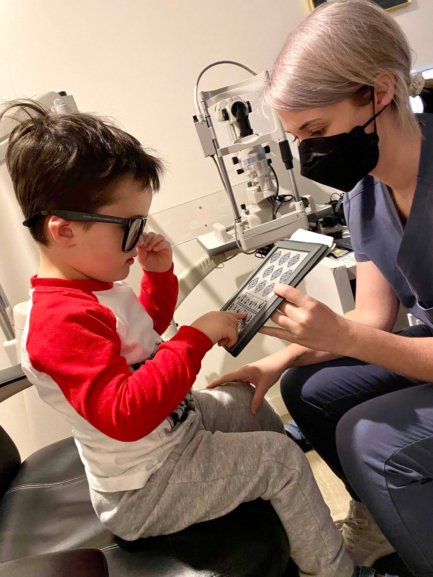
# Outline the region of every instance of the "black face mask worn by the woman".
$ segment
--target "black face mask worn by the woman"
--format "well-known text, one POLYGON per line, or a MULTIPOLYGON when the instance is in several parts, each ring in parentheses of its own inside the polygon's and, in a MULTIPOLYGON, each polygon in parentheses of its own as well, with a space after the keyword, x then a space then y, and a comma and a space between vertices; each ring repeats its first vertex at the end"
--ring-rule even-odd
POLYGON ((334 136, 306 138, 299 145, 301 174, 315 182, 349 192, 374 169, 379 160, 379 137, 376 118, 382 108, 363 126, 334 136), (365 133, 365 127, 374 122, 374 132, 365 133))

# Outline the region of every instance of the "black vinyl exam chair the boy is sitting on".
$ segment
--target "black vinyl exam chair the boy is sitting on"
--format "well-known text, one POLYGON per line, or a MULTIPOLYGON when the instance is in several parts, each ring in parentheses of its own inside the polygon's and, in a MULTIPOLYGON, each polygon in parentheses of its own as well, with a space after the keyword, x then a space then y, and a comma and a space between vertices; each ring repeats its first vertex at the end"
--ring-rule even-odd
MULTIPOLYGON (((0 370, 0 402, 28 386, 20 365, 0 370)), ((178 533, 123 541, 95 515, 72 437, 21 463, 0 427, 0 577, 107 575, 294 577, 297 567, 277 514, 262 499, 178 533)))

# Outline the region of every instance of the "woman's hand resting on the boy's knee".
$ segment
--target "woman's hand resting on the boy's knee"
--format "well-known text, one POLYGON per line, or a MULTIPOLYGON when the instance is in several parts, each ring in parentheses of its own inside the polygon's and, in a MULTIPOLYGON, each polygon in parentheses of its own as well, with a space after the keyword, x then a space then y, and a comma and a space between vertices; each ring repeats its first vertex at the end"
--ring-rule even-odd
POLYGON ((256 391, 251 401, 251 413, 255 415, 263 402, 264 395, 272 385, 277 383, 283 373, 283 369, 273 361, 272 356, 241 366, 240 369, 232 370, 232 372, 212 381, 206 388, 213 389, 218 385, 232 381, 244 381, 244 383, 254 385, 256 391))

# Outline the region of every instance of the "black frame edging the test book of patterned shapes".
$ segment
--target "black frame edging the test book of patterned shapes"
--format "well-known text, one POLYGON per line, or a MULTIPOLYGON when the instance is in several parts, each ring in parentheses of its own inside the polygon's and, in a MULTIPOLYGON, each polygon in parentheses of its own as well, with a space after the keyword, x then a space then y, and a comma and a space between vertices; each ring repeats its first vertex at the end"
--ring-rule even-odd
MULTIPOLYGON (((268 264, 268 261, 273 257, 274 253, 276 253, 279 249, 286 249, 286 250, 298 250, 301 252, 308 252, 309 254, 307 257, 304 258, 302 263, 296 269, 292 276, 289 276, 288 282, 284 284, 288 284, 289 286, 296 287, 301 280, 305 278, 305 275, 311 271, 316 264, 319 263, 320 260, 325 256, 325 254, 329 250, 329 246, 327 245, 319 245, 312 242, 299 242, 299 241, 279 241, 275 244, 274 248, 267 254, 266 258, 259 264, 259 266, 248 276, 248 279, 245 280, 244 284, 232 295, 232 297, 226 302, 221 310, 227 310, 232 302, 237 298, 237 296, 245 290, 245 287, 251 282, 251 280, 257 275, 260 269, 265 268, 268 264)), ((247 324, 245 328, 242 329, 239 333, 239 338, 237 343, 233 345, 233 347, 224 347, 226 351, 228 351, 233 357, 237 357, 237 355, 244 350, 256 332, 263 327, 264 323, 269 319, 271 314, 277 310, 278 306, 283 301, 282 297, 278 295, 274 295, 271 297, 266 305, 256 314, 254 319, 247 324)))

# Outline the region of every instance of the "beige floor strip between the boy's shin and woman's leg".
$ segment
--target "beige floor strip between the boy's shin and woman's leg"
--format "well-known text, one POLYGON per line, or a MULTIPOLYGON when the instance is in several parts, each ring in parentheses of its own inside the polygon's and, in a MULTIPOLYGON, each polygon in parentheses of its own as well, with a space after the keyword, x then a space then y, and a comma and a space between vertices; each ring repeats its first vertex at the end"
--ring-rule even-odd
MULTIPOLYGON (((285 424, 290 421, 290 415, 283 415, 281 418, 285 424)), ((311 469, 322 492, 323 499, 330 508, 332 518, 334 521, 344 519, 349 509, 350 500, 344 484, 334 475, 316 451, 307 453, 307 459, 309 464, 311 464, 311 469)))

